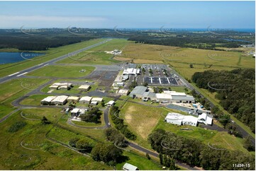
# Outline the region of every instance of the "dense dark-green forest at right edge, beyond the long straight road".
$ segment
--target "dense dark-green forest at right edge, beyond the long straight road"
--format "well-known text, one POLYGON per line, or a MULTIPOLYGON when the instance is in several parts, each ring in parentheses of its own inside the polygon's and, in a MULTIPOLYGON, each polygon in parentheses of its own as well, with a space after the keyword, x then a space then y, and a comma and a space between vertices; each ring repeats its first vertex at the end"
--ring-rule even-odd
MULTIPOLYGON (((192 81, 199 88, 216 92, 220 105, 255 133, 255 69, 196 72, 192 81)), ((218 107, 215 117, 221 117, 218 107)))

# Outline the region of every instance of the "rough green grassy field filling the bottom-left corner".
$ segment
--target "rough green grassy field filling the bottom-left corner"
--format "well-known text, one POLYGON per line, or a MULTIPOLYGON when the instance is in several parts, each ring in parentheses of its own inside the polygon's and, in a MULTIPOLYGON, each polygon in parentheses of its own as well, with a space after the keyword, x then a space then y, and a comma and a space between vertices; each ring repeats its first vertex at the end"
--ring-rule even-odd
MULTIPOLYGON (((36 110, 26 110, 23 112, 34 113, 36 110)), ((44 115, 55 122, 61 114, 58 110, 43 109, 44 115), (54 117, 56 115, 56 117, 54 117)), ((39 113, 37 113, 39 114, 39 113)), ((98 163, 91 158, 69 150, 58 143, 53 143, 45 138, 45 134, 52 129, 52 124, 42 125, 40 121, 30 121, 20 116, 19 112, 13 114, 6 122, 0 124, 1 135, 1 170, 113 170, 112 167, 98 163), (17 131, 10 133, 8 131, 11 124, 23 121, 27 125, 17 131), (28 150, 24 147, 38 150, 28 150)), ((62 138, 65 130, 58 131, 52 129, 52 136, 62 138), (59 135, 57 137, 57 135, 59 135)), ((66 134, 68 138, 77 136, 77 134, 66 134)))

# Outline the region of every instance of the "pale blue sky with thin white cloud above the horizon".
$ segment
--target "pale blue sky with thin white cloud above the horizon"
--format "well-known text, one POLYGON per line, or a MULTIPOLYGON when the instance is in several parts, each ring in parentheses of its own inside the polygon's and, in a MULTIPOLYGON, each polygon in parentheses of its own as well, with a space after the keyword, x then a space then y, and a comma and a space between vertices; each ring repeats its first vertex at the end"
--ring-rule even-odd
POLYGON ((0 28, 255 28, 255 1, 0 1, 0 28))

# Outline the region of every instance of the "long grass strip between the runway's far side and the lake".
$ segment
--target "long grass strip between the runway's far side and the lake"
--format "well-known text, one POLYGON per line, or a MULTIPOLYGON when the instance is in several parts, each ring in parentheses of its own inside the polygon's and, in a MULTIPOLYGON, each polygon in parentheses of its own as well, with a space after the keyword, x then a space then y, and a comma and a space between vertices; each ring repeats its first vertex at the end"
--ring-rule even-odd
POLYGON ((76 44, 67 45, 63 47, 50 48, 49 50, 42 52, 42 53, 45 53, 45 55, 35 58, 40 60, 33 60, 33 61, 25 60, 25 61, 21 61, 14 64, 0 65, 0 76, 1 77, 8 76, 11 73, 16 73, 18 71, 21 71, 22 69, 27 69, 28 67, 41 64, 45 61, 49 61, 50 59, 61 57, 64 54, 69 54, 70 52, 74 52, 75 50, 88 47, 89 45, 94 45, 97 42, 102 42, 103 40, 104 39, 89 40, 89 41, 79 42, 76 44))

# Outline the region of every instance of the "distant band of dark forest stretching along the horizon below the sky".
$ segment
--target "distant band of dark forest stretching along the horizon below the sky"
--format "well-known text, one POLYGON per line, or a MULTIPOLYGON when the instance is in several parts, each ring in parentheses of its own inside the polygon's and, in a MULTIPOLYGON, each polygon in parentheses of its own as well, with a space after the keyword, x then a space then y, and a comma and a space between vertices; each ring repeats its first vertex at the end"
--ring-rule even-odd
MULTIPOLYGON (((45 28, 0 30, 0 49, 46 50, 72 43, 100 37, 126 38, 135 42, 152 45, 191 47, 198 49, 218 49, 218 47, 240 47, 241 44, 254 44, 255 35, 250 33, 228 32, 214 35, 195 31, 165 32, 163 30, 88 29, 88 28, 45 28), (232 40, 228 41, 226 38, 232 40), (247 42, 235 41, 247 40, 247 42), (249 41, 248 41, 249 40, 249 41)), ((223 49, 218 49, 223 50, 223 49)))

